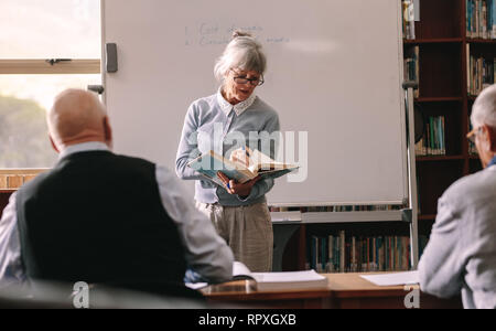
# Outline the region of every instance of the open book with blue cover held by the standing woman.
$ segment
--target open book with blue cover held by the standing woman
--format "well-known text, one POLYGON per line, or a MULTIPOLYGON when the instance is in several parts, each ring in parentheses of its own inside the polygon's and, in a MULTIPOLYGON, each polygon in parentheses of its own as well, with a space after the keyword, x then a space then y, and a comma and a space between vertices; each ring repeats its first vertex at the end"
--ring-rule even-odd
POLYGON ((261 178, 276 179, 300 168, 295 164, 277 162, 258 150, 247 149, 246 153, 248 164, 237 160, 228 160, 211 150, 190 161, 187 166, 222 186, 224 184, 217 175, 218 171, 223 172, 231 180, 236 180, 239 183, 246 183, 258 175, 261 178))

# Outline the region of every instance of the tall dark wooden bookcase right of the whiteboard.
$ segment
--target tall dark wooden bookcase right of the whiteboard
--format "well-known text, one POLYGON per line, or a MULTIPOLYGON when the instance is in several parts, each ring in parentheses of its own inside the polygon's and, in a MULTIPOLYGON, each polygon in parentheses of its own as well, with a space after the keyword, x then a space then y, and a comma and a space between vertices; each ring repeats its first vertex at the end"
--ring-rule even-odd
POLYGON ((429 236, 438 200, 460 178, 482 169, 465 138, 475 97, 467 92, 467 44, 471 54, 495 57, 496 41, 466 36, 465 0, 420 0, 416 39, 403 47, 419 46, 419 97, 424 116, 445 117, 445 156, 418 157, 420 195, 419 232, 429 236))

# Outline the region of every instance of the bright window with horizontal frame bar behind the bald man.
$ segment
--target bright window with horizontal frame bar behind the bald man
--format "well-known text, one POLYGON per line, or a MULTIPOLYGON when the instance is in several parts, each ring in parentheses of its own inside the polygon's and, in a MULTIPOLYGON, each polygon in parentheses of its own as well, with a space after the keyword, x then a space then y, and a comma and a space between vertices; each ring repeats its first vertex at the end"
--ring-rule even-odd
POLYGON ((45 113, 54 97, 101 85, 100 1, 2 0, 1 7, 0 169, 51 168, 57 156, 45 113))

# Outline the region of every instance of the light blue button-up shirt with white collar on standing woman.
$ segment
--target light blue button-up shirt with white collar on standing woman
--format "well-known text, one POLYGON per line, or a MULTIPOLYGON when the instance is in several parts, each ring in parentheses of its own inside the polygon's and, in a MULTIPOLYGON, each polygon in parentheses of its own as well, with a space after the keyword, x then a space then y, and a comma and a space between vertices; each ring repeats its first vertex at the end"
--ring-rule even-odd
POLYGON ((195 200, 202 203, 239 206, 266 202, 266 193, 272 189, 273 179, 258 181, 250 195, 242 199, 205 180, 187 163, 209 150, 229 159, 233 150, 244 146, 274 159, 279 141, 273 138, 280 138, 279 130, 278 114, 259 97, 251 95, 244 103, 233 106, 224 99, 219 89, 217 94, 190 106, 177 149, 176 173, 183 180, 196 180, 195 200), (273 141, 272 147, 267 148, 270 140, 273 141))

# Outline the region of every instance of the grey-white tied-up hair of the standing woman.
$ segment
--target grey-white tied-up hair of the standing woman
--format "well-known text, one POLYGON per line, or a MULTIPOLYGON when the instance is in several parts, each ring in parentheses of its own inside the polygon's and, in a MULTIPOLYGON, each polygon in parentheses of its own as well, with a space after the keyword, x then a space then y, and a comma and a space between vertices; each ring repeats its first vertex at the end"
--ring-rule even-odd
POLYGON ((215 64, 214 74, 217 81, 223 83, 231 68, 255 71, 263 75, 267 57, 262 52, 262 45, 249 33, 236 31, 233 38, 215 64))

